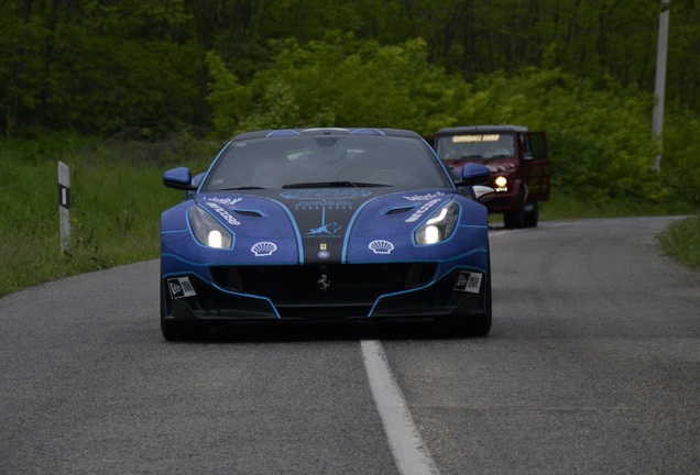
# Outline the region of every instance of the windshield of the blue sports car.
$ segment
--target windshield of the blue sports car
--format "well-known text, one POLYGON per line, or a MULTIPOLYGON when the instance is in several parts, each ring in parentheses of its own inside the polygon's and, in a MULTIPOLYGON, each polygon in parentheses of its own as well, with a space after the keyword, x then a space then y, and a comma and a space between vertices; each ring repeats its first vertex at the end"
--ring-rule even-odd
POLYGON ((451 184, 419 139, 297 135, 232 141, 203 190, 376 186, 451 184))

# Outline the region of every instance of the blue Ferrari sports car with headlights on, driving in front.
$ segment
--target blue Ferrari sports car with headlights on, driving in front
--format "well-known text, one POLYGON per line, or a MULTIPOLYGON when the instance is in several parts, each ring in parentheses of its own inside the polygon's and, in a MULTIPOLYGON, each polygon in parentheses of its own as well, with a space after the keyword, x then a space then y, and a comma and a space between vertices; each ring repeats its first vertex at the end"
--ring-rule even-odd
MULTIPOLYGON (((486 167, 456 176, 415 132, 243 133, 206 172, 166 172, 161 329, 427 320, 491 329, 486 167)), ((457 334, 457 333, 456 333, 457 334)))

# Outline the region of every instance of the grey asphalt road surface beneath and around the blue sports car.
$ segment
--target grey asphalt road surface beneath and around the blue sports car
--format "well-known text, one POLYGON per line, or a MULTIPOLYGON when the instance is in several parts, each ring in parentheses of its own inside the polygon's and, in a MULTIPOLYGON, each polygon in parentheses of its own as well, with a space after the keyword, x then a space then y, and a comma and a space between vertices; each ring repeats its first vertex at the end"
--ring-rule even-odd
POLYGON ((166 343, 157 262, 12 294, 0 474, 407 473, 368 345, 424 472, 697 474, 700 272, 661 255, 668 221, 494 230, 494 324, 477 339, 310 328, 166 343))

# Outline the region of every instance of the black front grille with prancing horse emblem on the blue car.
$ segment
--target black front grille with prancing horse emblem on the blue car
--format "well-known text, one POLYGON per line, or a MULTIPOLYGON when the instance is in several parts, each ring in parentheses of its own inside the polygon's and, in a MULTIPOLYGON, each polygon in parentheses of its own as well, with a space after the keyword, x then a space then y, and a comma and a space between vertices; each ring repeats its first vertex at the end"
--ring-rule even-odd
POLYGON ((267 297, 277 308, 354 307, 425 285, 436 267, 431 263, 217 266, 211 275, 220 287, 267 297))

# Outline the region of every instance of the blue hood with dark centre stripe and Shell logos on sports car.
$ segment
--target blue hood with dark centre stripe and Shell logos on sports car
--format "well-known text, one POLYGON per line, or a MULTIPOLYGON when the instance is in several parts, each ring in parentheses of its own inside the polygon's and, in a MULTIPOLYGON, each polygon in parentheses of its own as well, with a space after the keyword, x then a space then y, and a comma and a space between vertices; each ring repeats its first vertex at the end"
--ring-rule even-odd
MULTIPOLYGON (((451 199, 485 216, 481 205, 445 188, 314 188, 194 197, 233 235, 231 250, 225 250, 236 253, 231 261, 289 264, 415 258, 413 232, 451 199)), ((192 205, 193 200, 181 203, 183 220, 192 205)), ((485 219, 480 224, 485 227, 485 219)), ((446 251, 420 247, 425 258, 446 251)))

